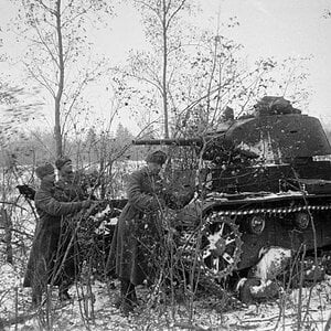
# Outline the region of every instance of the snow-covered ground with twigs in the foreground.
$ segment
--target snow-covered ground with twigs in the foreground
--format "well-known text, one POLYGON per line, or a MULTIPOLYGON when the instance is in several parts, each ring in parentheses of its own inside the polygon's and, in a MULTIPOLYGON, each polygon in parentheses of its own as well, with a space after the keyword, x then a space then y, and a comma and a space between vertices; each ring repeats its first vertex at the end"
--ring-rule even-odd
MULTIPOLYGON (((30 289, 22 288, 19 270, 3 264, 0 275, 0 330, 44 330, 46 307, 43 313, 31 309, 30 289)), ((54 290, 49 314, 52 330, 325 330, 331 313, 330 276, 312 289, 296 289, 280 299, 250 306, 229 300, 224 309, 220 309, 217 299, 207 296, 199 297, 192 309, 188 303, 150 306, 148 289, 139 287, 141 305, 129 317, 114 307, 116 281, 111 289, 95 281, 93 295, 87 293, 86 285, 72 288, 73 300, 63 305, 54 290)))

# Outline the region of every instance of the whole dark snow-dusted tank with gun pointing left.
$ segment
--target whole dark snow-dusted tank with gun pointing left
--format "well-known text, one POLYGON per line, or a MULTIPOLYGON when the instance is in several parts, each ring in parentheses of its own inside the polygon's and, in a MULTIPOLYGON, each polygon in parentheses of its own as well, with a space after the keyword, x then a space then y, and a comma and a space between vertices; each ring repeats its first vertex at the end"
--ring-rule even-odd
POLYGON ((247 269, 270 246, 331 245, 331 147, 320 121, 282 97, 264 97, 252 116, 229 117, 205 137, 134 143, 202 152, 204 190, 175 220, 206 275, 247 269))

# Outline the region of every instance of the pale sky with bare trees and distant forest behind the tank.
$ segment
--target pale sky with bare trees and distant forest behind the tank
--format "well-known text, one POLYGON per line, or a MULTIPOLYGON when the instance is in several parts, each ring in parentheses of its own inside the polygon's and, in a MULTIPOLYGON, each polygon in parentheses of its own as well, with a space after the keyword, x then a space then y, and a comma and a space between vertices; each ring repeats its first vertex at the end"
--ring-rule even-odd
POLYGON ((203 136, 227 107, 241 116, 264 95, 319 117, 329 135, 324 1, 2 0, 1 8, 2 163, 63 153, 81 167, 141 159, 146 150, 129 147, 135 137, 203 136))

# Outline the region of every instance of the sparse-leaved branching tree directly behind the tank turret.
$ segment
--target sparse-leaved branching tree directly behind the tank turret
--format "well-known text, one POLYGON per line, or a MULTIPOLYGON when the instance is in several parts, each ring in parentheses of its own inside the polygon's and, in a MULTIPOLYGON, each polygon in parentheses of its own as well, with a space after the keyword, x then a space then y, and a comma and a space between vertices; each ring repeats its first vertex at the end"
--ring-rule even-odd
MULTIPOLYGON (((231 24, 237 23, 231 19, 231 24)), ((309 57, 260 58, 248 66, 241 55, 243 45, 220 29, 202 31, 196 40, 182 63, 170 98, 174 135, 203 136, 217 129, 229 108, 234 117, 247 114, 265 95, 284 96, 301 107, 307 103, 309 57)))

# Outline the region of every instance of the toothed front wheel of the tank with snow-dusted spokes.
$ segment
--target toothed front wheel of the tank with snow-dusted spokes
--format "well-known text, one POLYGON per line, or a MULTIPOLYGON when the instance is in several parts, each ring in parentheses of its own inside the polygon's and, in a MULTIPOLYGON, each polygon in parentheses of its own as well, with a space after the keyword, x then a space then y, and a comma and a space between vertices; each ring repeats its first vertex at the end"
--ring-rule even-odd
POLYGON ((212 212, 202 228, 201 263, 209 276, 229 276, 241 261, 242 245, 238 225, 229 217, 212 212))

